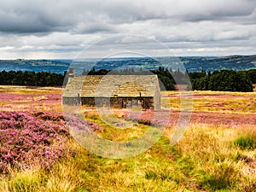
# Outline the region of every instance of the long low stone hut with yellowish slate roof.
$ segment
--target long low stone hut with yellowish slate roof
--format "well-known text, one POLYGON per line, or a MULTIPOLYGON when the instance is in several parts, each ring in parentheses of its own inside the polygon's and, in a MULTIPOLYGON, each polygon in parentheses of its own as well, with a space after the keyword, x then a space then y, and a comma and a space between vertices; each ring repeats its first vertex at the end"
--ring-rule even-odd
POLYGON ((65 105, 160 109, 157 75, 72 75, 63 90, 65 105))

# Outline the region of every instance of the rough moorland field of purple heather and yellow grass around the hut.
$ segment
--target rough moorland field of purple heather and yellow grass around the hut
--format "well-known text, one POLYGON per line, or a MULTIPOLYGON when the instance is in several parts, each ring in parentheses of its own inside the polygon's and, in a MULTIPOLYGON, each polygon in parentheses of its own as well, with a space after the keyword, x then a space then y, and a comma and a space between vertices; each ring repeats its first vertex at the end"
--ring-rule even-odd
POLYGON ((256 191, 256 93, 194 91, 189 129, 172 146, 179 98, 163 93, 162 107, 172 110, 158 118, 112 110, 110 123, 82 108, 93 131, 114 142, 141 137, 169 117, 154 146, 115 160, 73 139, 67 125, 80 122, 61 113, 61 88, 0 86, 0 191, 256 191), (131 126, 119 129, 116 119, 131 126))

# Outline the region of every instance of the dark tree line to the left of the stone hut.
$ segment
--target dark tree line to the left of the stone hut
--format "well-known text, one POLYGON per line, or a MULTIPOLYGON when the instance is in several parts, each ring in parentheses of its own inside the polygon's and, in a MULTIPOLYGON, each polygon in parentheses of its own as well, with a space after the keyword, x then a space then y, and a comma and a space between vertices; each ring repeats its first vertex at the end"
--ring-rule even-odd
POLYGON ((0 72, 1 85, 61 86, 64 76, 49 72, 0 72))

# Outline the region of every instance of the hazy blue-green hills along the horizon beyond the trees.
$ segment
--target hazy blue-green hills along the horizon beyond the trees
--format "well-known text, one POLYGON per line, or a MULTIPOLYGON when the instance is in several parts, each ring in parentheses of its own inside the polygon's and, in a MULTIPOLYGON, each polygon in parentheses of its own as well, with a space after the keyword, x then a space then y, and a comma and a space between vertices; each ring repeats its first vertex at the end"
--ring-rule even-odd
POLYGON ((118 67, 133 67, 144 69, 157 69, 158 67, 166 67, 177 70, 180 63, 189 72, 216 71, 221 69, 233 69, 236 71, 249 70, 256 68, 256 55, 230 55, 222 57, 203 57, 203 56, 182 56, 182 57, 150 57, 139 58, 108 58, 105 60, 0 60, 0 71, 33 71, 33 72, 50 72, 64 73, 73 63, 77 73, 82 73, 83 69, 95 67, 98 69, 116 69, 118 67), (179 61, 178 61, 179 59, 179 61))

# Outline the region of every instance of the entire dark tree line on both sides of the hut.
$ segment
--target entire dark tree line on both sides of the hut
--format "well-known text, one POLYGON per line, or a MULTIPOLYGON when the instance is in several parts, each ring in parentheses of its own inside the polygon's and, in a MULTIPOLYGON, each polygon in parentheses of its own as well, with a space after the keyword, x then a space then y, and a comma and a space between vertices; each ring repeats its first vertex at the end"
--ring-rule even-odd
MULTIPOLYGON (((193 72, 185 73, 172 71, 165 67, 159 67, 156 70, 145 71, 133 68, 119 71, 110 71, 106 69, 83 71, 82 75, 145 75, 156 74, 160 79, 161 90, 175 90, 176 84, 187 84, 188 74, 193 90, 222 90, 222 91, 253 91, 253 84, 256 84, 256 69, 249 71, 222 70, 214 72, 193 72)), ((65 73, 66 74, 66 73, 65 73)), ((0 72, 0 84, 8 85, 32 85, 32 86, 61 86, 65 84, 65 74, 49 72, 21 72, 21 71, 2 71, 0 72)), ((67 79, 66 79, 67 81, 67 79)), ((66 82, 67 83, 67 82, 66 82)))

